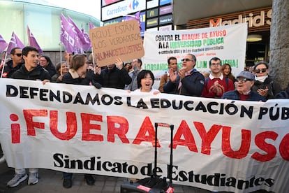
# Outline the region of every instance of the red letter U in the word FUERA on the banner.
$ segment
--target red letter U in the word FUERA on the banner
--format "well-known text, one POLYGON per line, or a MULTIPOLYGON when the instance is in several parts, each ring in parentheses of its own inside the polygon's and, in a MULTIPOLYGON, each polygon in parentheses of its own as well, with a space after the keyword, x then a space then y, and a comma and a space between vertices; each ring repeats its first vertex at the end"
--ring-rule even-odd
POLYGON ((73 138, 77 131, 77 122, 76 122, 76 115, 72 112, 66 112, 66 131, 61 133, 58 131, 57 127, 58 122, 58 111, 51 110, 50 111, 50 131, 51 133, 61 139, 61 140, 70 140, 73 138))

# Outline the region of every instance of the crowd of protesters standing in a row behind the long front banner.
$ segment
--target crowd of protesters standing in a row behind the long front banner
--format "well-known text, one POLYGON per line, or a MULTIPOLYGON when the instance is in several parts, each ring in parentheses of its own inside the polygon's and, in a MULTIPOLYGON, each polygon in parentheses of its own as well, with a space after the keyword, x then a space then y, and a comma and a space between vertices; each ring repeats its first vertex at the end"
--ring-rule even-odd
MULTIPOLYGON (((86 55, 73 55, 64 52, 65 61, 56 66, 50 57, 39 56, 38 50, 27 46, 23 49, 13 48, 10 59, 2 66, 1 78, 15 78, 26 80, 41 80, 43 84, 66 83, 74 85, 94 85, 96 88, 110 87, 129 92, 160 92, 181 94, 186 96, 200 96, 217 99, 233 99, 242 101, 267 101, 267 99, 288 99, 289 85, 282 91, 278 83, 269 76, 269 64, 259 62, 252 67, 252 71, 242 71, 237 76, 232 75, 230 64, 221 64, 221 59, 213 57, 209 60, 207 77, 195 69, 197 58, 187 54, 181 59, 181 69, 178 69, 177 58, 168 58, 168 72, 161 76, 158 90, 153 88, 154 73, 142 69, 142 60, 133 59, 124 64, 120 58, 114 64, 100 67, 86 55)), ((205 73, 204 73, 205 74, 205 73)), ((0 160, 4 160, 3 157, 0 160)), ((38 169, 16 169, 15 176, 7 183, 15 187, 29 178, 28 184, 38 183, 38 169)), ((63 185, 72 186, 72 173, 64 173, 63 185)), ((84 174, 88 185, 94 185, 94 178, 84 174)))

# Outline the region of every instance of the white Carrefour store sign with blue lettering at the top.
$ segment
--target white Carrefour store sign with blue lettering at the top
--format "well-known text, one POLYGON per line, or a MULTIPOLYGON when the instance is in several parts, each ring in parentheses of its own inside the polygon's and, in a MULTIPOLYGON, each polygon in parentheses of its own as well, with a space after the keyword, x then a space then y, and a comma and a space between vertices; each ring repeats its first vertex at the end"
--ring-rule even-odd
POLYGON ((101 10, 101 20, 110 20, 114 17, 125 16, 130 13, 135 13, 145 9, 143 0, 126 0, 119 3, 114 3, 111 6, 105 6, 101 10))

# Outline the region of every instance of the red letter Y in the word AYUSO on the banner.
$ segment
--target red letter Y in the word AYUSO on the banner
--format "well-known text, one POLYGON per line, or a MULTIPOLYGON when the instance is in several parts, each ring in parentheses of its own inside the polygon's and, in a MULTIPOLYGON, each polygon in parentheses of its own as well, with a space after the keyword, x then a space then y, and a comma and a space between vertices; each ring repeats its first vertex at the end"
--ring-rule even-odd
POLYGON ((214 140, 214 138, 216 138, 218 131, 220 131, 220 129, 222 129, 223 126, 214 124, 211 127, 211 129, 209 129, 209 131, 207 132, 205 127, 204 127, 204 124, 202 124, 201 122, 193 122, 193 124, 195 124, 195 129, 197 129, 197 131, 200 134, 200 137, 202 138, 202 150, 201 150, 201 152, 203 154, 210 155, 211 143, 214 140))

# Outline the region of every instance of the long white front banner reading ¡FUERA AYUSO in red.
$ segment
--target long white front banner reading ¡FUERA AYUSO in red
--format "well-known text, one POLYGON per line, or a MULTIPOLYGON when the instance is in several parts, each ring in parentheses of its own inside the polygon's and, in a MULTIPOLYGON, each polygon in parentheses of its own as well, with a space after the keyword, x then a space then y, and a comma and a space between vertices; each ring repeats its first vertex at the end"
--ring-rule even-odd
MULTIPOLYGON (((232 101, 0 79, 8 166, 144 178, 154 123, 174 124, 173 183, 206 190, 289 192, 288 100, 232 101)), ((167 176, 170 129, 158 127, 167 176)))

